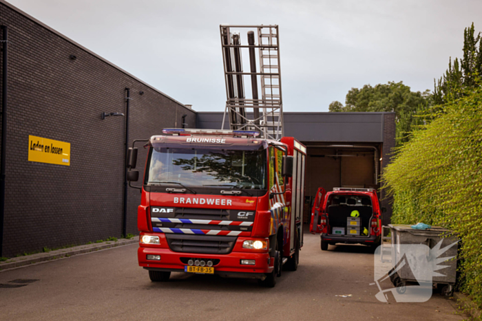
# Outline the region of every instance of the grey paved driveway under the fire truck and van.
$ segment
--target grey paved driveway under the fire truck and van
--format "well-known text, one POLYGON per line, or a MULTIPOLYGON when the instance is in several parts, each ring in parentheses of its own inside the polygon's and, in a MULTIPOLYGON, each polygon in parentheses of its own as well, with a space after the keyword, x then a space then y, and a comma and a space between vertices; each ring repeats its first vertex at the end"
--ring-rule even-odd
POLYGON ((171 275, 151 283, 138 245, 0 272, 0 320, 462 320, 454 300, 379 302, 368 247, 322 252, 305 234, 297 272, 273 289, 255 280, 171 275), (29 281, 30 280, 30 281, 29 281), (336 295, 351 294, 342 298, 336 295))

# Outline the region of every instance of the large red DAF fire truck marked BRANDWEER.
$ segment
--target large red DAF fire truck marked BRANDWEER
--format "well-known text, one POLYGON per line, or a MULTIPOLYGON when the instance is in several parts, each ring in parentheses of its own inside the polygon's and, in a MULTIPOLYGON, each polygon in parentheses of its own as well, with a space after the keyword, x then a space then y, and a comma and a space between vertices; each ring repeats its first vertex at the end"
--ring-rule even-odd
MULTIPOLYGON (((306 147, 256 131, 164 129, 152 136, 138 207, 138 262, 171 272, 257 278, 274 287, 303 245, 306 147)), ((127 179, 138 180, 137 148, 127 179)))

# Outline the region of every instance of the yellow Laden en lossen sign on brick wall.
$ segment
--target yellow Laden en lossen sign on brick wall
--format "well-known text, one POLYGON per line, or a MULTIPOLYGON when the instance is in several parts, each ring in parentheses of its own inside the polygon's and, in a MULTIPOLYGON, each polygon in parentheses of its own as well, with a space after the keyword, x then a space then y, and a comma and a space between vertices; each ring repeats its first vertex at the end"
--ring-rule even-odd
POLYGON ((70 166, 70 143, 28 135, 28 160, 70 166))

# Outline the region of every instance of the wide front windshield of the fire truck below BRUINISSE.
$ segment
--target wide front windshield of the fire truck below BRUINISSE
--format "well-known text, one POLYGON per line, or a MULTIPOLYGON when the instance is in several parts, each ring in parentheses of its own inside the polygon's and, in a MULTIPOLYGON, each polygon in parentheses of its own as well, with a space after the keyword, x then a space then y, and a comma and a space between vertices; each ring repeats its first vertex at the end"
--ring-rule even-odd
POLYGON ((147 184, 266 189, 266 150, 153 148, 147 184))

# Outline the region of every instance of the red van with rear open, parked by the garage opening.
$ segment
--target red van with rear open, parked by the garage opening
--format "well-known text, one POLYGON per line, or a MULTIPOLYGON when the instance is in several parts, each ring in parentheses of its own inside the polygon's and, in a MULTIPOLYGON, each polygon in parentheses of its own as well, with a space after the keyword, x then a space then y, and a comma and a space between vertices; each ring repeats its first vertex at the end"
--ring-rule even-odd
POLYGON ((310 232, 320 233, 322 250, 335 243, 376 248, 381 239, 381 212, 373 188, 319 188, 311 211, 310 232))

